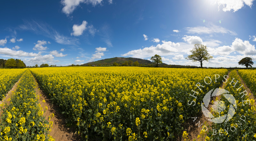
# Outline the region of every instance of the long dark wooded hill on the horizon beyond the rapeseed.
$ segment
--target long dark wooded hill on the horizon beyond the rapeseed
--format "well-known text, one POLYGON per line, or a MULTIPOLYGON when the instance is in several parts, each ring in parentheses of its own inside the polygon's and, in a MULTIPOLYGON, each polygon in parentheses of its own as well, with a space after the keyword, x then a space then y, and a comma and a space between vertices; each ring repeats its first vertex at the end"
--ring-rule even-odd
POLYGON ((140 64, 142 65, 148 65, 148 64, 153 64, 153 62, 149 61, 149 60, 145 60, 145 59, 140 59, 140 58, 132 58, 132 57, 114 57, 114 58, 108 58, 108 59, 102 59, 102 60, 98 60, 98 61, 94 61, 94 62, 89 62, 89 63, 85 63, 83 64, 85 65, 113 65, 113 63, 119 63, 122 64, 125 61, 129 61, 132 60, 132 62, 136 62, 138 61, 140 64))

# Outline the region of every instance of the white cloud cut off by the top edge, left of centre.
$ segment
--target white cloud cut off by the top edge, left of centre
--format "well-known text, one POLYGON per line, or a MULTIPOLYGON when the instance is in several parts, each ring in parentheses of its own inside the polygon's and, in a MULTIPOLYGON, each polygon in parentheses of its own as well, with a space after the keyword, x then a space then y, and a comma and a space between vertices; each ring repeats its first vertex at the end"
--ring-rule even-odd
MULTIPOLYGON (((71 14, 80 3, 92 4, 93 6, 100 4, 102 0, 62 0, 61 3, 64 6, 62 12, 69 15, 71 14)), ((109 3, 112 0, 109 0, 109 3)))

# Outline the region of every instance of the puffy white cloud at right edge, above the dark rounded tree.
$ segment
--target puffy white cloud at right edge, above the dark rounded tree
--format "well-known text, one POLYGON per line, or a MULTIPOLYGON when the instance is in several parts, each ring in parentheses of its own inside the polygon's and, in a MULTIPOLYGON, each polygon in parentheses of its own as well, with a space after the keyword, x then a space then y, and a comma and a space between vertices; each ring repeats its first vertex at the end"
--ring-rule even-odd
POLYGON ((235 51, 244 55, 255 55, 256 49, 255 46, 250 44, 249 41, 243 41, 239 38, 236 38, 235 41, 232 42, 232 47, 235 51))

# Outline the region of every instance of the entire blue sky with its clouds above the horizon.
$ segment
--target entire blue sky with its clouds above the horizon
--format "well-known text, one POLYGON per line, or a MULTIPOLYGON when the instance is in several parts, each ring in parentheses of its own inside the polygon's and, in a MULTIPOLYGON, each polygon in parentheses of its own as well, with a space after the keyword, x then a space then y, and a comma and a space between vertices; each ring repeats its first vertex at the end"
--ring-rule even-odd
POLYGON ((3 0, 0 13, 0 58, 27 66, 155 54, 200 66, 185 59, 196 43, 213 56, 206 67, 256 61, 254 0, 3 0))

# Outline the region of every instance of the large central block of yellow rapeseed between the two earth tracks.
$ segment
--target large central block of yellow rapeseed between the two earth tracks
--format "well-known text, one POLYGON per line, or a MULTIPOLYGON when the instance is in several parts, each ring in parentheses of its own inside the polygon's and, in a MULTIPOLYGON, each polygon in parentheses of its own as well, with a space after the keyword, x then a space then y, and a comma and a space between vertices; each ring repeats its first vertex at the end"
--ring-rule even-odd
POLYGON ((67 122, 88 140, 173 140, 184 121, 198 115, 205 92, 219 87, 228 73, 225 69, 142 67, 30 70, 67 122), (205 86, 195 99, 188 93, 198 89, 197 83, 205 86))

